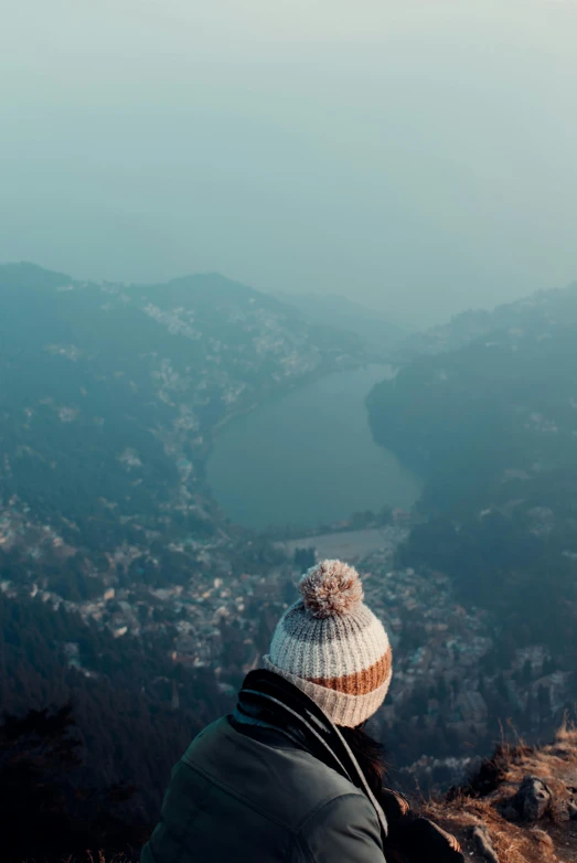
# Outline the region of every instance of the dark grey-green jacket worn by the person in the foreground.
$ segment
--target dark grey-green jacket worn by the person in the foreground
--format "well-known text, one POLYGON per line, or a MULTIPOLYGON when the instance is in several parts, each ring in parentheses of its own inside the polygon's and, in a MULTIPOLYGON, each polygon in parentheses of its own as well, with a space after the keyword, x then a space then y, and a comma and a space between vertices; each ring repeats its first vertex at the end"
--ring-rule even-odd
POLYGON ((385 863, 387 832, 339 729, 290 683, 256 671, 235 714, 174 767, 141 863, 385 863))

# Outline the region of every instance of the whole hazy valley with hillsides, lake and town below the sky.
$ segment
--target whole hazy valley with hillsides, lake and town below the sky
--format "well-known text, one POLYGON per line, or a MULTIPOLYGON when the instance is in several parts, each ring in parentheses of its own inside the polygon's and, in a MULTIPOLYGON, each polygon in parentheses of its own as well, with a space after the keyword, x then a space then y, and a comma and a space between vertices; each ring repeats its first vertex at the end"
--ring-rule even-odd
POLYGON ((355 564, 391 633, 375 722, 403 787, 446 788, 504 723, 539 739, 571 710, 574 292, 395 376, 360 337, 215 276, 8 267, 0 303, 3 704, 121 685, 143 735, 170 716, 157 778, 125 765, 140 811, 191 729, 231 708, 313 555, 355 564), (35 617, 40 671, 19 647, 35 617))

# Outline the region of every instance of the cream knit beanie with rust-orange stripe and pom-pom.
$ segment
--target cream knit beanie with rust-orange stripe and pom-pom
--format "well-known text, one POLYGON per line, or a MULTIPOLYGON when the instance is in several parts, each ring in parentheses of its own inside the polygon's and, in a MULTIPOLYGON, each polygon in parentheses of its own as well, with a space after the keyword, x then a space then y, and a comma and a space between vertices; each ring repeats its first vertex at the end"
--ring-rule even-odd
POLYGON ((299 583, 301 598, 276 628, 269 671, 293 683, 335 724, 355 727, 381 706, 393 651, 381 621, 363 604, 356 569, 322 561, 299 583))

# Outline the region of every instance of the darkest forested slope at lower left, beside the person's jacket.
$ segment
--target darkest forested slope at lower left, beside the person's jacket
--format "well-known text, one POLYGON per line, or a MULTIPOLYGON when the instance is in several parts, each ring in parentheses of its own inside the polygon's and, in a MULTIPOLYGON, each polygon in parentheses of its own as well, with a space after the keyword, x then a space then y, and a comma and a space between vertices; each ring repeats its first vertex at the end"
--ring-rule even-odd
POLYGON ((210 671, 173 667, 171 643, 170 628, 115 639, 63 606, 0 594, 3 860, 141 844, 170 767, 229 707, 210 671))

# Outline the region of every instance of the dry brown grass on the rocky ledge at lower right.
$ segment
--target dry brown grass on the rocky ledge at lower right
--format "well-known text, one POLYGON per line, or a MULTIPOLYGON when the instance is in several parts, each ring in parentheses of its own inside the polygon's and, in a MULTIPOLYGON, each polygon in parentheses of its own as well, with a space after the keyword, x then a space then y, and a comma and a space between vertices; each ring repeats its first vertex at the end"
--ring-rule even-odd
POLYGON ((463 788, 447 801, 429 801, 425 813, 450 830, 469 860, 481 863, 471 831, 484 825, 501 863, 577 863, 577 821, 567 806, 577 798, 577 729, 565 724, 549 746, 534 748, 519 741, 501 746, 491 764, 494 788, 485 793, 463 788), (500 808, 513 797, 523 778, 537 776, 553 795, 551 812, 537 824, 512 823, 500 808))

